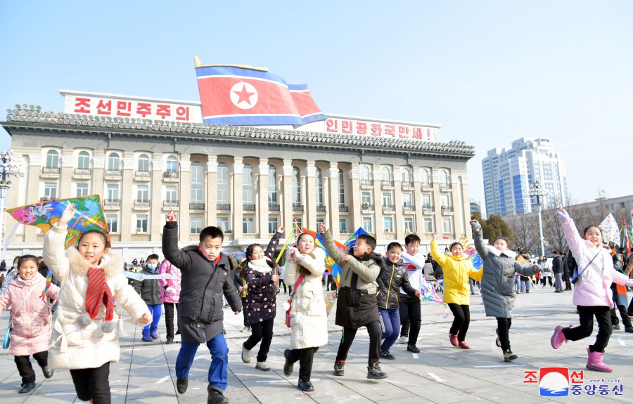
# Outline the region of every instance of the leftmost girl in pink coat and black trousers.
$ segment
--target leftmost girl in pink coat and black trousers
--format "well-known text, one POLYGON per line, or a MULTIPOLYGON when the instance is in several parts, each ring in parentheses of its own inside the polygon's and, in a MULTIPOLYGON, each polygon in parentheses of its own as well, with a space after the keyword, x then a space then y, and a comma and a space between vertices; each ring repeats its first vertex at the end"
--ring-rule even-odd
POLYGON ((56 300, 59 287, 49 285, 37 272, 37 257, 23 255, 18 260, 18 275, 0 296, 0 313, 11 306, 11 355, 22 377, 19 393, 35 389, 35 372, 29 356, 41 367, 46 379, 53 377, 49 369, 49 344, 51 343, 51 305, 56 300))

